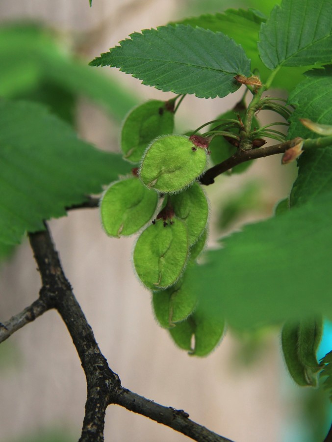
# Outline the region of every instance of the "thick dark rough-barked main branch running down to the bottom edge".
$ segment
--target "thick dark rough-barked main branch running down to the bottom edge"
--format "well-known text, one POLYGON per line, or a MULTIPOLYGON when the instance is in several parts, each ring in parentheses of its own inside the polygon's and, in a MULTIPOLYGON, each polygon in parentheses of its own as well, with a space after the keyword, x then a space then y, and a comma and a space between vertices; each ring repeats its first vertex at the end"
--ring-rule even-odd
POLYGON ((66 279, 48 230, 29 235, 43 287, 53 298, 54 306, 65 322, 77 349, 87 381, 87 400, 80 442, 103 441, 104 418, 111 392, 120 387, 103 357, 93 331, 77 303, 66 279))

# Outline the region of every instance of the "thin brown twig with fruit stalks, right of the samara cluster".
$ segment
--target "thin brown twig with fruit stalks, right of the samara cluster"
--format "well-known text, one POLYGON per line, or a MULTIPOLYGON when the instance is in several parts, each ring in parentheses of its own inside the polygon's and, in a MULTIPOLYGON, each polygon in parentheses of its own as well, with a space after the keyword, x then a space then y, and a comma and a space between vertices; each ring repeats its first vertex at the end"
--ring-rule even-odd
POLYGON ((222 173, 230 170, 245 161, 254 160, 256 158, 264 158, 270 155, 284 153, 287 149, 293 147, 300 138, 294 138, 284 143, 275 144, 273 146, 260 147, 258 149, 238 150, 233 156, 206 170, 200 178, 201 184, 208 186, 214 183, 214 178, 222 173))

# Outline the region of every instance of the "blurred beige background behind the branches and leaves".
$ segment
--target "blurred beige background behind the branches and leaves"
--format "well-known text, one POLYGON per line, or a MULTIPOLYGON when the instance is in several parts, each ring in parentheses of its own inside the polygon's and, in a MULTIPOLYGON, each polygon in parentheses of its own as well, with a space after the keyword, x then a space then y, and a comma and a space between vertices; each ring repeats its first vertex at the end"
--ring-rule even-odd
MULTIPOLYGON (((0 20, 18 18, 41 20, 61 30, 67 43, 90 60, 135 30, 179 18, 179 2, 93 0, 89 8, 88 0, 2 0, 0 20)), ((106 69, 142 100, 168 96, 106 69)), ((180 124, 197 127, 230 109, 235 99, 187 97, 179 111, 180 124)), ((82 102, 78 126, 83 138, 104 149, 118 149, 115 123, 88 103, 82 102)), ((263 184, 264 208, 249 214, 248 220, 272 213, 291 182, 289 171, 279 165, 280 158, 260 160, 244 176, 219 177, 215 186, 206 189, 212 207, 211 244, 217 234, 213 208, 243 183, 258 179, 263 184)), ((163 405, 184 409, 193 420, 233 441, 281 442, 283 363, 276 333, 267 335, 263 357, 250 368, 235 364, 240 344, 230 334, 209 357, 191 358, 175 347, 153 318, 150 293, 132 272, 134 238, 107 238, 97 210, 72 212, 50 225, 77 299, 110 367, 125 387, 163 405)), ((0 321, 5 321, 38 296, 39 275, 27 243, 2 265, 0 274, 0 321)), ((0 441, 48 427, 68 429, 78 440, 86 384, 59 316, 48 312, 10 340, 20 364, 0 372, 0 441)), ((107 410, 106 442, 185 440, 173 430, 119 407, 107 410)))

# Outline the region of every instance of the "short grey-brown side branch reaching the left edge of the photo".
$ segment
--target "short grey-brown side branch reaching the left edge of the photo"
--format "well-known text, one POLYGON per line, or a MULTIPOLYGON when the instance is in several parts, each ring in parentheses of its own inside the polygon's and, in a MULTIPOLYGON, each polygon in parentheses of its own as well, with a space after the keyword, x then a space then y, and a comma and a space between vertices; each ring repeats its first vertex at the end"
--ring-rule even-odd
POLYGON ((9 321, 0 324, 0 342, 5 341, 15 331, 22 329, 29 322, 34 321, 47 310, 52 308, 51 303, 46 299, 39 298, 37 301, 26 307, 23 311, 12 316, 9 321))

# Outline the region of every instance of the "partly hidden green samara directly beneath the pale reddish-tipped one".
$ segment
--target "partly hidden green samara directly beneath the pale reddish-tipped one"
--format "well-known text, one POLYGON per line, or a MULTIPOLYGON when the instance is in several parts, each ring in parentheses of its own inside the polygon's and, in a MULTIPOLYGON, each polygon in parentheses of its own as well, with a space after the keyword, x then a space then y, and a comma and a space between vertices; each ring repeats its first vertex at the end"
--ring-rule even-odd
POLYGON ((202 187, 194 183, 183 192, 170 195, 169 201, 176 217, 186 224, 188 244, 193 246, 202 235, 208 219, 208 203, 202 187))

